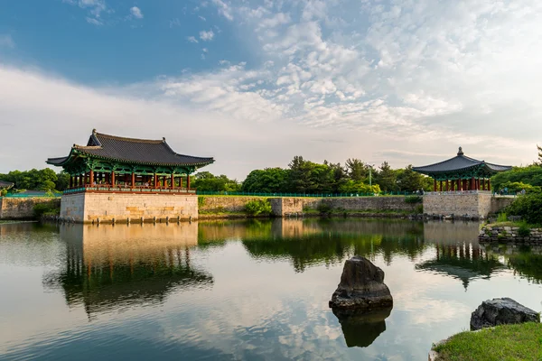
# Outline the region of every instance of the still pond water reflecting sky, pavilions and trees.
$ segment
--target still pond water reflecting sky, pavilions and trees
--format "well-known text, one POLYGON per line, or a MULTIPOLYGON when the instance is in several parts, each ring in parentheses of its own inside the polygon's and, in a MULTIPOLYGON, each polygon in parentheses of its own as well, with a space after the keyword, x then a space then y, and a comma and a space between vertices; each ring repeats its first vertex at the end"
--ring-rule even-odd
POLYGON ((477 223, 276 219, 0 225, 2 360, 421 360, 481 301, 542 310, 539 249, 477 223), (386 273, 389 314, 341 322, 342 264, 386 273))

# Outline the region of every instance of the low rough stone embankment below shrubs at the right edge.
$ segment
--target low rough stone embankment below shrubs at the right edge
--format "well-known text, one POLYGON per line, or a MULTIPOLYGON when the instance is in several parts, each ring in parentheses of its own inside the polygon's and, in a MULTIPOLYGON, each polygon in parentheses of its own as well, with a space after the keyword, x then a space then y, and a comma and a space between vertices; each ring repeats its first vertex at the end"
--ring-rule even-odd
POLYGON ((542 228, 522 229, 520 227, 485 226, 478 236, 480 242, 521 243, 523 245, 542 245, 542 228))

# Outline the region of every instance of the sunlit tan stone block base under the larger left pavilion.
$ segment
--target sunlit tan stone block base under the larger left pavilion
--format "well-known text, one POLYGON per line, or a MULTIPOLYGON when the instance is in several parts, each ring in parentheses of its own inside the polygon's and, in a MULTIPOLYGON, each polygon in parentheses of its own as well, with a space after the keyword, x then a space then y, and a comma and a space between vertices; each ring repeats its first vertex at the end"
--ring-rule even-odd
POLYGON ((179 194, 67 194, 62 196, 61 218, 83 223, 195 219, 198 199, 179 194))

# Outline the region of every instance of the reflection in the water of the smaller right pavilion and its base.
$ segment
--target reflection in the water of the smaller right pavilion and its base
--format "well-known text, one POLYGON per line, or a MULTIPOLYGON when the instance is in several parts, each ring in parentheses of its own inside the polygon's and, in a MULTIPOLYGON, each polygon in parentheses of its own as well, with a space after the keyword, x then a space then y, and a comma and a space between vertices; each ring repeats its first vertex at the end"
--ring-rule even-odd
POLYGON ((489 279, 504 264, 479 245, 478 233, 478 223, 474 222, 426 223, 425 242, 435 246, 435 258, 416 264, 416 270, 461 280, 465 290, 473 279, 489 279))

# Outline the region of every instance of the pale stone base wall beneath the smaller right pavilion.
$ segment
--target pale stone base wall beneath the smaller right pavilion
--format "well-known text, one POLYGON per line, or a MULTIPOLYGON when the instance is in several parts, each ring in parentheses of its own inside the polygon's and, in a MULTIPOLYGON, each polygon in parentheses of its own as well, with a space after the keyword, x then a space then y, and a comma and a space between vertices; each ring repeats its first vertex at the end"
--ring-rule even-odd
POLYGON ((513 198, 494 197, 491 193, 440 193, 424 196, 424 213, 433 216, 486 218, 507 207, 513 198))

